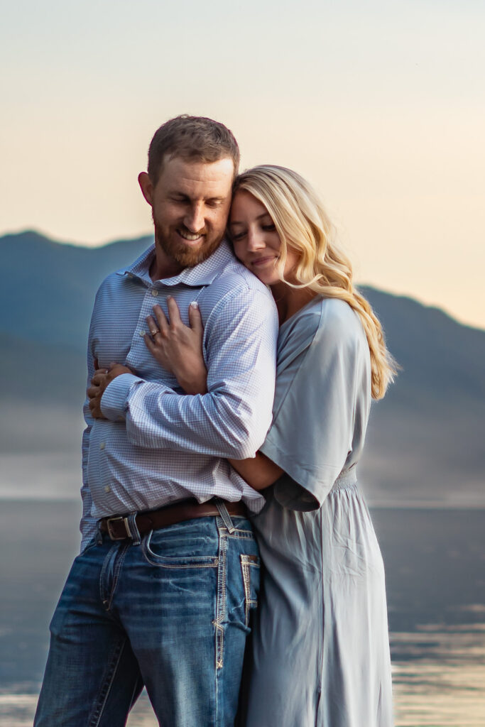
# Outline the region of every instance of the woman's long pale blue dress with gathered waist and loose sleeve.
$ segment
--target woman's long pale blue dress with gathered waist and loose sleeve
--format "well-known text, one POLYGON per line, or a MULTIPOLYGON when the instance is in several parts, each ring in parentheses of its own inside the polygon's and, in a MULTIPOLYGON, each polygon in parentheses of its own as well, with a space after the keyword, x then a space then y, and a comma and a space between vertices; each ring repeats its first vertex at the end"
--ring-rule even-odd
POLYGON ((285 475, 253 518, 264 576, 246 727, 390 727, 384 569, 357 486, 369 347, 340 300, 282 324, 262 452, 285 475))

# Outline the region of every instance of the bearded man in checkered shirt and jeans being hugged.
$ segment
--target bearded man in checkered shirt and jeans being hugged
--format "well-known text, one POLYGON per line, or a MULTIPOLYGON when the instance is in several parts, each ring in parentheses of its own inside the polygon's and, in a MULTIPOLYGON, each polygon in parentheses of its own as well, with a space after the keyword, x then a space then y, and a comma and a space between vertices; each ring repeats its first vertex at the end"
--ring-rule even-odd
POLYGON ((270 425, 278 329, 223 241, 238 166, 211 119, 177 117, 151 142, 139 182, 155 246, 105 279, 92 315, 81 555, 36 727, 124 725, 143 684, 160 724, 233 724, 259 582, 246 508, 262 497, 227 458, 254 457, 270 425), (186 323, 201 313, 204 395, 184 395, 146 345, 153 304, 169 316, 171 298, 186 323))

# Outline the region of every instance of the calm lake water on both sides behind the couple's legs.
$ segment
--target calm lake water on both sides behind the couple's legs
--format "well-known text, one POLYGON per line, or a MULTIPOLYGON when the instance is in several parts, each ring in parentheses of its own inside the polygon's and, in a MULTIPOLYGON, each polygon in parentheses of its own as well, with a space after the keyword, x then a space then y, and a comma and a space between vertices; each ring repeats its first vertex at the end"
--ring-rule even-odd
MULTIPOLYGON (((396 727, 484 727, 485 510, 373 509, 372 518, 388 582, 396 727)), ((2 726, 31 727, 78 521, 73 502, 0 501, 2 726)), ((156 727, 146 696, 128 724, 156 727)))

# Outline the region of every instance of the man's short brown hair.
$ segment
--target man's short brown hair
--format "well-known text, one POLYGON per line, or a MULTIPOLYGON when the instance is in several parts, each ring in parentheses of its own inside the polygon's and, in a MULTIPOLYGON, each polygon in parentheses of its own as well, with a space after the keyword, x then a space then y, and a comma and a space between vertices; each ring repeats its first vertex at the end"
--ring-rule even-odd
POLYGON ((148 175, 153 185, 159 180, 164 159, 175 156, 207 164, 231 158, 235 178, 239 170, 239 146, 233 132, 205 116, 183 114, 156 130, 148 149, 148 175))

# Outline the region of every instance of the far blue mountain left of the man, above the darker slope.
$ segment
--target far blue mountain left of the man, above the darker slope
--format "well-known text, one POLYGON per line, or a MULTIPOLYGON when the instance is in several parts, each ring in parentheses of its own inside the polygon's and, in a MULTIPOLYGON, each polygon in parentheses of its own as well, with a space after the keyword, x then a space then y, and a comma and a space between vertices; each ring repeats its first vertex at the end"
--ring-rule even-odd
POLYGON ((84 350, 100 282, 150 244, 153 236, 102 247, 60 244, 31 231, 0 238, 0 330, 18 335, 22 321, 22 337, 84 350))

